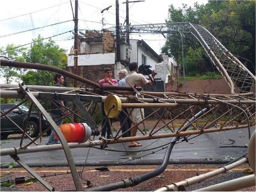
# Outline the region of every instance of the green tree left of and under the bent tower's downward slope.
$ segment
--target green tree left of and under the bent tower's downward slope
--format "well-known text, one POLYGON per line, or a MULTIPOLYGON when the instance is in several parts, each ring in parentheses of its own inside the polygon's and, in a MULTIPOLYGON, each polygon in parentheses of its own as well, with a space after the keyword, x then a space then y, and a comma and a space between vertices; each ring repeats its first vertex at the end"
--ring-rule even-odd
MULTIPOLYGON (((190 22, 199 23, 204 15, 204 5, 195 3, 193 7, 182 4, 182 8, 176 9, 169 6, 169 16, 166 22, 190 22)), ((183 34, 185 73, 189 76, 213 71, 207 53, 190 33, 183 34)), ((182 44, 180 34, 167 35, 166 44, 162 47, 162 53, 174 57, 182 69, 182 44)))

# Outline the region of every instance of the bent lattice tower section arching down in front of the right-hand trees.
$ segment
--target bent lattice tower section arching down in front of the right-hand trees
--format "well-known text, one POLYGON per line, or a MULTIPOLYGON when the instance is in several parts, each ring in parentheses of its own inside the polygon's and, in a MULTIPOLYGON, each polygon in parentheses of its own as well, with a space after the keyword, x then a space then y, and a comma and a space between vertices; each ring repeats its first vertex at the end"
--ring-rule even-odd
MULTIPOLYGON (((127 26, 122 26, 120 29, 126 31, 127 26)), ((108 30, 116 31, 114 27, 108 30)), ((132 25, 129 27, 129 32, 152 34, 189 32, 198 39, 212 63, 224 76, 231 88, 231 93, 255 92, 255 76, 203 26, 184 22, 132 25)))

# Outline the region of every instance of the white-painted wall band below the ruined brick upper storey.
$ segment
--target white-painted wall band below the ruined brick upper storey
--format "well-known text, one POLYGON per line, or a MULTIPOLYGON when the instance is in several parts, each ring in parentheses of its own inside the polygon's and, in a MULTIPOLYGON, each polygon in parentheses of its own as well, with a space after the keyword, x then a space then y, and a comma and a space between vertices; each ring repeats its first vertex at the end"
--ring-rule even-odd
MULTIPOLYGON (((74 55, 68 55, 67 66, 74 66, 74 55)), ((114 64, 115 53, 78 55, 78 66, 114 64)))

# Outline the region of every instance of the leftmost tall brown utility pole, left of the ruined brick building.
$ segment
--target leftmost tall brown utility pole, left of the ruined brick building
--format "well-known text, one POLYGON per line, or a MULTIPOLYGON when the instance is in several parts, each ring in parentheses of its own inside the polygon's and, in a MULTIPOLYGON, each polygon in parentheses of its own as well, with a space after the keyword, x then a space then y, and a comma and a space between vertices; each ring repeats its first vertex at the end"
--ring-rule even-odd
MULTIPOLYGON (((78 0, 75 0, 75 42, 74 42, 74 73, 77 75, 78 66, 78 0)), ((77 87, 77 80, 74 80, 74 87, 77 87)))

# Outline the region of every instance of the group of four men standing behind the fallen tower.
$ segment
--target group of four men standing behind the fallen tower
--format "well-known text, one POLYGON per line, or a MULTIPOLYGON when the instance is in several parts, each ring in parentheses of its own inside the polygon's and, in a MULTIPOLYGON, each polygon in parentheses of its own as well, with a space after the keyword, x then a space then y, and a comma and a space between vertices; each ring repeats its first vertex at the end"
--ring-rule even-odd
MULTIPOLYGON (((152 85, 153 84, 152 81, 149 81, 148 79, 145 78, 145 76, 138 73, 138 64, 136 62, 132 62, 128 66, 129 66, 129 71, 130 71, 129 73, 125 69, 119 71, 119 74, 118 74, 119 81, 117 81, 116 79, 112 79, 111 68, 106 68, 104 70, 105 78, 101 79, 99 81, 99 84, 126 86, 126 82, 128 82, 129 85, 138 86, 138 87, 143 87, 144 85, 152 85)), ((152 74, 152 79, 154 80, 154 73, 152 74)), ((64 83, 64 77, 61 74, 56 74, 54 77, 54 80, 55 80, 55 84, 53 86, 55 86, 55 87, 61 87, 62 84, 64 83)), ((54 103, 52 103, 52 105, 51 105, 51 109, 53 109, 53 111, 51 112, 52 118, 56 122, 56 124, 59 126, 62 124, 62 120, 59 120, 59 119, 61 119, 63 113, 61 113, 59 110, 54 110, 57 108, 56 106, 63 108, 64 102, 59 101, 59 104, 57 102, 57 105, 55 105, 54 103)), ((120 125, 122 126, 122 137, 136 136, 138 127, 134 126, 134 125, 137 124, 138 122, 142 121, 142 119, 144 119, 144 110, 143 109, 137 108, 137 109, 133 109, 132 111, 131 110, 132 109, 127 109, 127 110, 125 109, 125 110, 122 110, 121 113, 119 114, 120 125), (130 119, 127 118, 128 113, 131 113, 130 118, 132 120, 132 123, 131 123, 130 119), (131 128, 131 126, 133 126, 133 128, 131 129, 131 131, 128 131, 131 128)), ((64 113, 66 113, 66 111, 64 111, 64 113)), ((112 120, 110 119, 111 123, 108 122, 107 115, 104 111, 104 103, 102 103, 102 116, 104 118, 102 121, 101 137, 106 137, 106 133, 107 133, 107 138, 111 139, 112 138, 112 133, 111 133, 112 120)), ((56 138, 54 136, 54 130, 52 130, 52 133, 49 137, 49 141, 48 141, 47 145, 57 144, 57 143, 59 143, 59 141, 56 140, 56 138)), ((140 146, 142 146, 142 144, 138 141, 130 141, 128 146, 129 147, 140 147, 140 146)))

